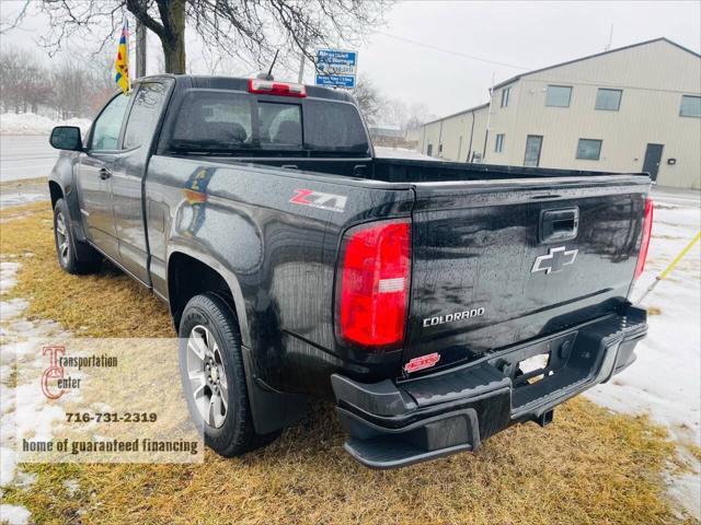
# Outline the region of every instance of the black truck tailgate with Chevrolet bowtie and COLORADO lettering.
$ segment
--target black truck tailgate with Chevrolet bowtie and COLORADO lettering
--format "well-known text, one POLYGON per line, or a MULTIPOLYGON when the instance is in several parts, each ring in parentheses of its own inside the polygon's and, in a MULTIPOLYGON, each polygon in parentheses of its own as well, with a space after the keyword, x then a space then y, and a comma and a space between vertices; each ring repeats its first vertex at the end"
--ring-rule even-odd
POLYGON ((625 302, 647 177, 426 183, 414 189, 404 363, 437 352, 436 371, 625 302))

